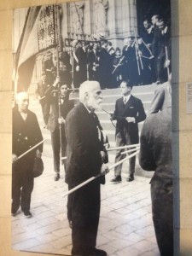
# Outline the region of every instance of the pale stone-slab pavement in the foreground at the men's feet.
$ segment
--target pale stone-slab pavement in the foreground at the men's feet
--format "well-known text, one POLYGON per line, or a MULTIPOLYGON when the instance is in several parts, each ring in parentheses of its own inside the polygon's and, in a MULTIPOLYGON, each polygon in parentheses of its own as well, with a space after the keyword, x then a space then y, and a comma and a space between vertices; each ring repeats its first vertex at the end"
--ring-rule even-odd
MULTIPOLYGON (((53 162, 43 157, 44 173, 35 178, 32 192, 32 218, 20 212, 12 217, 12 247, 15 250, 70 255, 71 230, 67 222, 67 192, 64 172, 55 182, 53 162)), ((109 164, 110 166, 110 164, 109 164)), ((137 166, 138 168, 138 166, 137 166)), ((102 185, 101 218, 97 247, 108 256, 159 256, 151 216, 149 177, 136 176, 127 183, 123 173, 122 183, 110 183, 109 172, 102 185)))

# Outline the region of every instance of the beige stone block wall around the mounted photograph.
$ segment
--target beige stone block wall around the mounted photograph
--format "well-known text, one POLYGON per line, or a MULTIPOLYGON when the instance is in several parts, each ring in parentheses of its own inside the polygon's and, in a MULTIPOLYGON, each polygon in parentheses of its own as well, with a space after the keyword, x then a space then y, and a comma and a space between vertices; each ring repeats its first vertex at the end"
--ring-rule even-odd
MULTIPOLYGON (((59 2, 41 0, 41 4, 48 3, 59 2)), ((0 0, 0 255, 3 256, 40 255, 11 249, 10 221, 13 9, 38 4, 38 0, 0 0)), ((176 255, 192 255, 192 114, 186 113, 185 99, 185 84, 192 82, 191 6, 192 0, 172 0, 172 145, 176 255)))

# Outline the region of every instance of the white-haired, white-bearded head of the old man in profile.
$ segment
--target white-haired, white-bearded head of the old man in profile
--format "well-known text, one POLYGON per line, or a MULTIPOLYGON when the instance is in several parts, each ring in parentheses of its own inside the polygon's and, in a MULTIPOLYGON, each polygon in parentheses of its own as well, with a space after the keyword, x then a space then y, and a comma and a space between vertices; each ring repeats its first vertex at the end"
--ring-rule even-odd
POLYGON ((79 101, 90 110, 100 108, 102 90, 97 81, 85 81, 79 87, 79 101))

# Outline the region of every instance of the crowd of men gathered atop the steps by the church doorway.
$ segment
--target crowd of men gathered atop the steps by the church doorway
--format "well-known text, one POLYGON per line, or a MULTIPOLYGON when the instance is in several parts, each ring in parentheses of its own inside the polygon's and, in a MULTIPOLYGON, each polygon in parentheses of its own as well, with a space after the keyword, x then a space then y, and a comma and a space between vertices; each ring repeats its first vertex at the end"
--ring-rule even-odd
POLYGON ((71 46, 58 60, 48 51, 43 62, 47 78, 53 80, 59 61, 61 82, 69 87, 79 88, 85 80, 98 81, 102 89, 117 88, 125 79, 132 85, 163 84, 171 72, 171 31, 159 15, 143 20, 143 32, 125 38, 122 49, 104 38, 73 40, 71 46))

